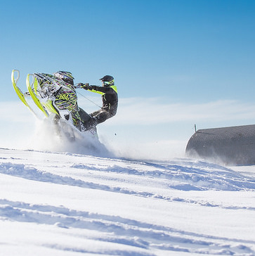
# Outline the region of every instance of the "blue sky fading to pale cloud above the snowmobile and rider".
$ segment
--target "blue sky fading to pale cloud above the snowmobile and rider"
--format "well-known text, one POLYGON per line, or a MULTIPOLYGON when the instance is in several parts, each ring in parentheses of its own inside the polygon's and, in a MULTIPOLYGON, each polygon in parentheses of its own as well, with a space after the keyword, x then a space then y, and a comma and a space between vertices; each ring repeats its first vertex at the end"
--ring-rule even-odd
POLYGON ((69 70, 75 82, 91 84, 113 75, 126 104, 118 118, 127 116, 137 127, 132 111, 140 120, 155 120, 150 129, 156 132, 143 127, 145 137, 169 131, 160 139, 179 139, 180 132, 187 139, 195 122, 201 128, 250 124, 254 13, 255 1, 246 0, 6 1, 0 9, 0 100, 18 101, 13 68, 20 70, 20 87, 27 73, 69 70), (215 115, 199 113, 214 109, 215 115), (172 120, 163 122, 164 129, 162 117, 155 118, 162 113, 172 120))

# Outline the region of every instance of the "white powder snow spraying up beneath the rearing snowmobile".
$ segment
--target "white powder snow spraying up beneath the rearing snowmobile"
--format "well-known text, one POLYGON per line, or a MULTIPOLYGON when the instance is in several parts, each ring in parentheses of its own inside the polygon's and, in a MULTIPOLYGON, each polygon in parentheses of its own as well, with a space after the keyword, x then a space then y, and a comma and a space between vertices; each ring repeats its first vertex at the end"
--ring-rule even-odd
POLYGON ((30 148, 39 151, 69 152, 101 157, 114 156, 107 151, 95 135, 89 132, 81 135, 78 131, 74 134, 70 127, 55 125, 52 118, 37 120, 30 148))

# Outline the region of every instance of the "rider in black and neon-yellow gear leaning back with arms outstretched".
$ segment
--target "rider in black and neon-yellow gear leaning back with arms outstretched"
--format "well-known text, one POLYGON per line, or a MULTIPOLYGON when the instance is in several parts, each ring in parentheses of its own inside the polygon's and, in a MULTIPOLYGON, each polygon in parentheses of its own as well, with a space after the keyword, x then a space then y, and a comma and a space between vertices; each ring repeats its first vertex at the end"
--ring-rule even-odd
POLYGON ((96 127, 97 124, 105 122, 105 120, 115 116, 117 113, 118 94, 117 87, 115 86, 115 79, 111 75, 105 75, 99 80, 102 82, 102 87, 89 85, 89 83, 78 84, 78 87, 102 95, 103 106, 100 110, 91 113, 91 117, 93 118, 90 120, 90 122, 85 124, 86 129, 89 129, 90 127, 96 127))

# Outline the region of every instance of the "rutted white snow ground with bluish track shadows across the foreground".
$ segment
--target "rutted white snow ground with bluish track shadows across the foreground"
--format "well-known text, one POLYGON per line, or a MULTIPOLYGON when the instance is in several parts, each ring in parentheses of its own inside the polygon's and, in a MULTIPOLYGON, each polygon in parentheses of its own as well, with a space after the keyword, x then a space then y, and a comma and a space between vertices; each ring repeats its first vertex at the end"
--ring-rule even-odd
POLYGON ((0 149, 1 255, 255 255, 254 167, 0 149))

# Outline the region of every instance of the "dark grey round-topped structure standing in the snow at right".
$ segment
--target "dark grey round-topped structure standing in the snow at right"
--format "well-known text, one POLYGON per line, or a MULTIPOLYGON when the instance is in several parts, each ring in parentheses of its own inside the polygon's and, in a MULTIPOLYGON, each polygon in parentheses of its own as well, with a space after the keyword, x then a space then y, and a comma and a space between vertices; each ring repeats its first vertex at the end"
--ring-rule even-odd
POLYGON ((200 129, 188 141, 186 154, 225 165, 255 165, 255 124, 200 129))

